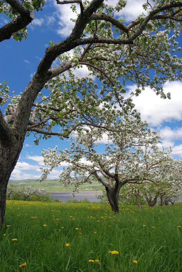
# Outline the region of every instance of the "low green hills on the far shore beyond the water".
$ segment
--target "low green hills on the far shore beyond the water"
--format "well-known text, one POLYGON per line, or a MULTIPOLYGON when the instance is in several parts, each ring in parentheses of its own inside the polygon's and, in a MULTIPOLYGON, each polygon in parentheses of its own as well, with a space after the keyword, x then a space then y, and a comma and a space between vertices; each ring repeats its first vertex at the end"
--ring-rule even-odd
MULTIPOLYGON (((46 189, 47 191, 72 191, 73 185, 63 186, 63 184, 59 183, 58 180, 44 180, 41 183, 39 180, 9 180, 9 183, 14 184, 16 186, 32 186, 38 187, 42 189, 46 189)), ((91 184, 84 183, 80 185, 80 190, 102 190, 103 186, 99 182, 93 182, 91 184)))

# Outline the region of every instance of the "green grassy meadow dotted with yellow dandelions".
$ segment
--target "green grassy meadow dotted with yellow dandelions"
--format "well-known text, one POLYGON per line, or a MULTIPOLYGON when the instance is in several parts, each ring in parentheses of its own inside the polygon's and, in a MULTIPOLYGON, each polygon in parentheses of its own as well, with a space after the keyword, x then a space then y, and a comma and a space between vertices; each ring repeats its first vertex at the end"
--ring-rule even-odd
POLYGON ((181 203, 114 214, 100 204, 7 201, 3 272, 180 272, 181 256, 181 203))

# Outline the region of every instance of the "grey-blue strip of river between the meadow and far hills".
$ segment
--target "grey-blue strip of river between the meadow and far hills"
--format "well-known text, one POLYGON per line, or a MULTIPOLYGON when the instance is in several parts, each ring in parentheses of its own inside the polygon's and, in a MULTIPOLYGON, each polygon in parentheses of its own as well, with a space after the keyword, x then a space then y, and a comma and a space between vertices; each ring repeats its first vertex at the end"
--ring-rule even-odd
POLYGON ((99 200, 96 198, 96 194, 100 195, 102 194, 102 191, 80 191, 79 193, 75 193, 75 197, 72 196, 72 192, 71 191, 60 191, 60 192, 50 192, 54 195, 54 199, 60 199, 62 202, 67 202, 68 199, 71 200, 80 200, 80 199, 84 199, 85 197, 93 202, 93 201, 97 201, 99 202, 99 200))

